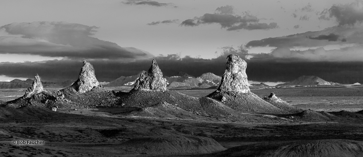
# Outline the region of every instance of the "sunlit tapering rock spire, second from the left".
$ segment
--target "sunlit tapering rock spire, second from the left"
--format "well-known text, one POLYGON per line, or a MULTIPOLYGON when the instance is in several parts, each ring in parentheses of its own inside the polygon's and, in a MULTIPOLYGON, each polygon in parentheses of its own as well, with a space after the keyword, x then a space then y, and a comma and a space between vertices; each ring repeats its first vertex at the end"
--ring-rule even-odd
POLYGON ((83 67, 79 72, 78 80, 71 87, 79 93, 84 93, 97 86, 99 86, 99 83, 94 74, 93 66, 86 59, 83 59, 83 67))

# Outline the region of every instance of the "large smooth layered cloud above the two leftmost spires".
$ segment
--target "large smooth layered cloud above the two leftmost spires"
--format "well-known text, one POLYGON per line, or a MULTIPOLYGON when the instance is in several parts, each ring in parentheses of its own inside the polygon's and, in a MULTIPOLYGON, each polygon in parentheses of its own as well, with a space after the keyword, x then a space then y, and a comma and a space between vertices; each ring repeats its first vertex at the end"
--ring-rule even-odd
POLYGON ((98 27, 67 22, 22 22, 3 25, 11 35, 1 36, 0 54, 32 54, 87 59, 142 59, 153 55, 91 37, 98 27))

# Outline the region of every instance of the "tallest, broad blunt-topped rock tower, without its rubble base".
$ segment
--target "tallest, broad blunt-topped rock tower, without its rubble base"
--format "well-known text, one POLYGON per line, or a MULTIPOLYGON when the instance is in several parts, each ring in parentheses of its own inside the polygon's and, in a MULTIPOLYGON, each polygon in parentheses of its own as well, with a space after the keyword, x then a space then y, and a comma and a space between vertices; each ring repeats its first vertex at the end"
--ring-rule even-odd
POLYGON ((236 54, 227 56, 226 70, 217 91, 249 93, 247 63, 236 54))

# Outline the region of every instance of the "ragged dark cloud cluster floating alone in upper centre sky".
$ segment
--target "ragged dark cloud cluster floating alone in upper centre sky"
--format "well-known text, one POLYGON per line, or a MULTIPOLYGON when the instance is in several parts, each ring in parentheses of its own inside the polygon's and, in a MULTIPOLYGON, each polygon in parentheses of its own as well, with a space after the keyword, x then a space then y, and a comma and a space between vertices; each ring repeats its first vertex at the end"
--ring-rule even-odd
MULTIPOLYGON (((264 19, 264 18, 262 18, 264 19)), ((198 26, 201 24, 219 24, 221 28, 231 30, 254 30, 254 29, 274 29, 278 28, 276 22, 270 24, 259 23, 260 19, 257 16, 251 15, 248 12, 244 16, 233 15, 233 6, 226 5, 216 9, 216 13, 205 13, 203 16, 195 17, 181 22, 181 26, 198 26)))

